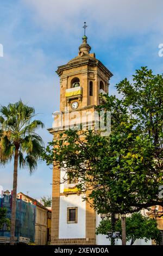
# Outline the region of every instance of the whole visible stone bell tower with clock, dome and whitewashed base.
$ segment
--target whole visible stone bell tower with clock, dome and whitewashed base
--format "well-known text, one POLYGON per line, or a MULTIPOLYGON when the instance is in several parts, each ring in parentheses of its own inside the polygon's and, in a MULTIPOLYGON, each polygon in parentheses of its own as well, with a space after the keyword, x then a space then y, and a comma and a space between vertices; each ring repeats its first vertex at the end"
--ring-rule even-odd
MULTIPOLYGON (((111 72, 90 53, 87 36, 83 36, 78 56, 56 71, 60 77, 60 111, 54 113, 53 128, 48 129, 53 138, 67 129, 64 122, 66 112, 83 114, 95 111, 95 106, 104 101, 102 94, 108 93, 111 72), (62 118, 58 122, 59 116, 62 118)), ((65 173, 53 169, 52 188, 52 245, 96 245, 96 212, 83 201, 84 194, 76 188, 75 180, 62 183, 65 173), (61 182, 61 183, 60 183, 61 182)))

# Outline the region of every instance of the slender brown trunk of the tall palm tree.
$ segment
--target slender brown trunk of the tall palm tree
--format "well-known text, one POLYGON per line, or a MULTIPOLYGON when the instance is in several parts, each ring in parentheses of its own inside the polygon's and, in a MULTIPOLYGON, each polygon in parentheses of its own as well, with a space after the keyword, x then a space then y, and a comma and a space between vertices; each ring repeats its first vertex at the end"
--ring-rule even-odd
POLYGON ((17 166, 18 166, 18 147, 15 148, 15 156, 14 156, 14 177, 13 177, 13 193, 12 193, 12 209, 11 209, 10 245, 14 245, 14 236, 15 236, 17 166))

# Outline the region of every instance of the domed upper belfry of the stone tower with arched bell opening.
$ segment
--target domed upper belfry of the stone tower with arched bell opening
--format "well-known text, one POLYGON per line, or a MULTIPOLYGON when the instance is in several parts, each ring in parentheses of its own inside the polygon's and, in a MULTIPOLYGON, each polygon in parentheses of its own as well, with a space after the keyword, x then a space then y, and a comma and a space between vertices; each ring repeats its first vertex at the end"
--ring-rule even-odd
POLYGON ((87 36, 83 36, 78 56, 58 67, 60 76, 60 111, 65 107, 80 109, 100 103, 100 93, 108 93, 111 72, 90 53, 87 36), (72 105, 73 102, 78 102, 72 105))

